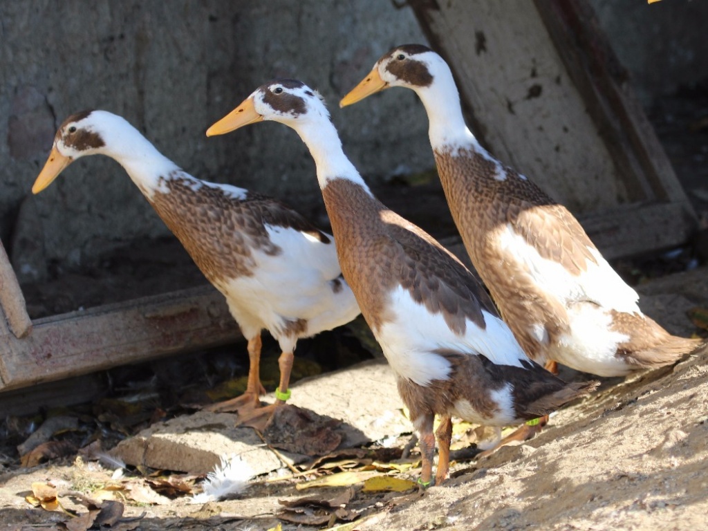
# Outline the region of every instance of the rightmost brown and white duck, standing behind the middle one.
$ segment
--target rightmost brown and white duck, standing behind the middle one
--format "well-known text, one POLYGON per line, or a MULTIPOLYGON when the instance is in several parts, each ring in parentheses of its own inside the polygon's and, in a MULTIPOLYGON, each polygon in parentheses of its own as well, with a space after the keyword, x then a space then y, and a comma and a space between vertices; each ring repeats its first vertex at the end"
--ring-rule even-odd
POLYGON ((670 335, 642 314, 578 220, 522 174, 504 166, 464 123, 447 63, 423 45, 381 57, 345 96, 350 105, 391 86, 413 89, 447 202, 474 267, 526 353, 600 376, 661 367, 699 340, 670 335))

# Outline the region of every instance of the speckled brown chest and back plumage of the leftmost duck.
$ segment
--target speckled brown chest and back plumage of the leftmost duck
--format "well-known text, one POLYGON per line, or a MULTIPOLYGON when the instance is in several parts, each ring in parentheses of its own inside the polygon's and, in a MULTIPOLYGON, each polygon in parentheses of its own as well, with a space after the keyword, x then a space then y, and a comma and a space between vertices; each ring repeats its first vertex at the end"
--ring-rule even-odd
POLYGON ((147 197, 210 282, 251 276, 256 249, 270 256, 281 252, 270 241, 265 224, 306 232, 325 244, 331 241, 272 198, 249 192, 240 200, 220 188, 205 185, 195 191, 193 185, 176 173, 161 178, 158 190, 147 197), (164 187, 169 193, 159 191, 164 187))

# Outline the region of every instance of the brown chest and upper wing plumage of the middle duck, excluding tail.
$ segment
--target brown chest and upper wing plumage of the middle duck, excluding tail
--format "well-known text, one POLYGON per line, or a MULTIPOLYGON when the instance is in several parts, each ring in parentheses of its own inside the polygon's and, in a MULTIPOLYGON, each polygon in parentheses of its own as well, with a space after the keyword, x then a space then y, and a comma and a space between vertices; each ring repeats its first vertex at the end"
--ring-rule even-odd
POLYGON ((465 319, 484 329, 481 309, 496 315, 489 295, 452 253, 359 185, 333 179, 322 193, 333 231, 347 242, 337 248, 342 273, 372 328, 389 319, 384 299, 399 285, 457 333, 465 319))

